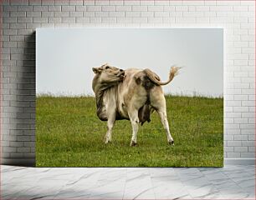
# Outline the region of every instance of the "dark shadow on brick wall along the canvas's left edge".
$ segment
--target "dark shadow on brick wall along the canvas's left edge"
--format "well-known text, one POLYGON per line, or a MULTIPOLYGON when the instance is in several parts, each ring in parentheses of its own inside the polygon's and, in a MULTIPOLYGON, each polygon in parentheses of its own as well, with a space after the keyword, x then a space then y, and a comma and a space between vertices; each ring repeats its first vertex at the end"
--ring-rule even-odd
MULTIPOLYGON (((17 113, 17 143, 23 143, 23 155, 13 159, 13 165, 34 167, 35 159, 35 117, 36 117, 36 33, 25 36, 23 55, 17 63, 18 67, 18 92, 17 106, 22 113, 17 113), (23 137, 18 137, 19 135, 23 137), (15 161, 14 161, 15 160, 15 161)), ((18 110, 19 112, 19 110, 18 110)))

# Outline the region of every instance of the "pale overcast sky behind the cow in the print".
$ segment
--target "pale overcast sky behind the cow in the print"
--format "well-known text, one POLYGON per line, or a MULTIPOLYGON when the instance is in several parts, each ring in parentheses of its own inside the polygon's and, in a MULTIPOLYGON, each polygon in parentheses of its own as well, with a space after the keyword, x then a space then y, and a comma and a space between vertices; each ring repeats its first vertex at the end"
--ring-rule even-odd
POLYGON ((37 94, 91 94, 92 67, 150 68, 166 81, 183 67, 166 93, 223 95, 222 28, 38 28, 37 94))

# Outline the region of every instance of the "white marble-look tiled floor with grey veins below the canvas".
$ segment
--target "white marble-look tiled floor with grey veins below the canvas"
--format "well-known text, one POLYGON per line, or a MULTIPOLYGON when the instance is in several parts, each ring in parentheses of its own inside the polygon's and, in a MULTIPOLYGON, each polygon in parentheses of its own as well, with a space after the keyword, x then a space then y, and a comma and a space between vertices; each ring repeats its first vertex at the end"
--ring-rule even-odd
POLYGON ((22 168, 1 166, 3 199, 255 199, 255 166, 22 168))

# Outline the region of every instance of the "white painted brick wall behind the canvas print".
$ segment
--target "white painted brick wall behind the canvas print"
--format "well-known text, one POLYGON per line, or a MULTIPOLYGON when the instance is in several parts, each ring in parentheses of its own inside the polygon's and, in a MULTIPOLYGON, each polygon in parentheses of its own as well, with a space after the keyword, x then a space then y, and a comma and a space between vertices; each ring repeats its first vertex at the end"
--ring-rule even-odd
POLYGON ((224 157, 255 158, 253 1, 3 0, 3 163, 35 158, 35 28, 225 29, 224 157))

